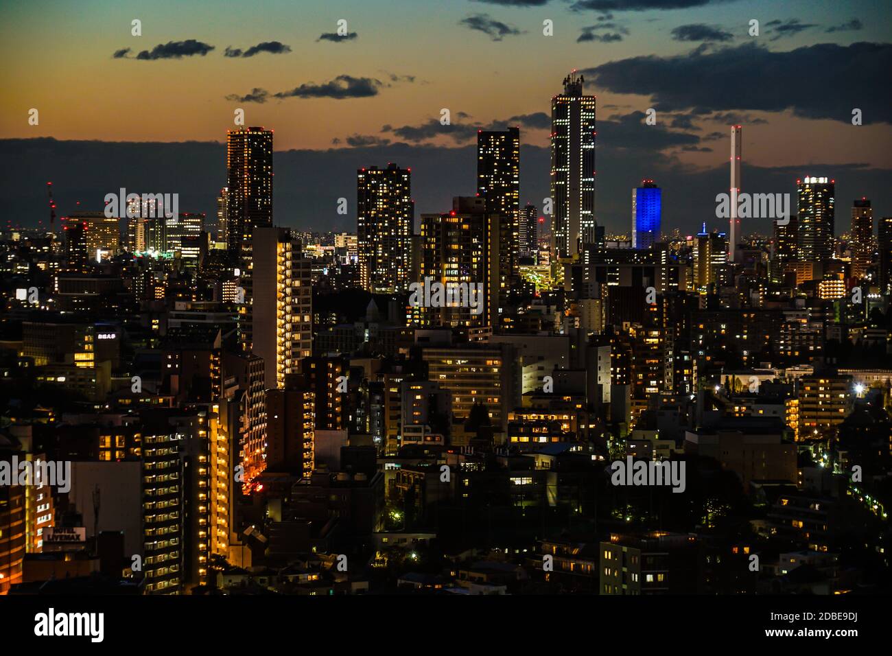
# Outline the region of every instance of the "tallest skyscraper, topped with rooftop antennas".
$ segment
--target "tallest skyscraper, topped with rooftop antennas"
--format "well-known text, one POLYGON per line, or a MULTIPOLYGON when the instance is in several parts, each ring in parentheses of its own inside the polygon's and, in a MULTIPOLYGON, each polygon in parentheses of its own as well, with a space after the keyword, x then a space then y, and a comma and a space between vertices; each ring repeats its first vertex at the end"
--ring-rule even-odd
POLYGON ((595 96, 582 95, 584 78, 571 73, 564 93, 551 98, 551 198, 558 256, 596 243, 595 96))

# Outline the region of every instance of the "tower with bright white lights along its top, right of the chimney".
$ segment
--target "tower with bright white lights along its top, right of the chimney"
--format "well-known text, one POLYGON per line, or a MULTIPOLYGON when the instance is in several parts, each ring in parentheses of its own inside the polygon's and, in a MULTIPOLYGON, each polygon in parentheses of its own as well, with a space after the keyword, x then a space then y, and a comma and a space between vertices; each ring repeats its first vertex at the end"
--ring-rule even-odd
POLYGON ((828 178, 797 180, 798 259, 829 260, 833 253, 835 182, 828 178))

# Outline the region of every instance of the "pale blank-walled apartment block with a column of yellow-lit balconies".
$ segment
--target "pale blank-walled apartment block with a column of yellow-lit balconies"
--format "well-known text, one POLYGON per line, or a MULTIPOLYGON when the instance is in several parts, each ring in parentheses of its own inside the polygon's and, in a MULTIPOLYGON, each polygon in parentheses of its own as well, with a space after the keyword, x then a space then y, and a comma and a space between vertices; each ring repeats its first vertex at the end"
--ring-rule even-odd
POLYGON ((267 388, 285 387, 310 356, 310 261, 289 228, 254 228, 253 352, 263 358, 267 388))

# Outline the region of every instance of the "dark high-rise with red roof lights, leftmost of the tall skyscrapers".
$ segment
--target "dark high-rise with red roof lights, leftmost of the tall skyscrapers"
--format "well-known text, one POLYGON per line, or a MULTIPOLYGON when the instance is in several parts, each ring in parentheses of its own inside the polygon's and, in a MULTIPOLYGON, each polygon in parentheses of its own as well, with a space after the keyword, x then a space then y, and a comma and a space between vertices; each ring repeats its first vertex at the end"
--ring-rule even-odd
POLYGON ((239 128, 227 132, 227 245, 248 259, 253 228, 273 224, 273 132, 239 128))

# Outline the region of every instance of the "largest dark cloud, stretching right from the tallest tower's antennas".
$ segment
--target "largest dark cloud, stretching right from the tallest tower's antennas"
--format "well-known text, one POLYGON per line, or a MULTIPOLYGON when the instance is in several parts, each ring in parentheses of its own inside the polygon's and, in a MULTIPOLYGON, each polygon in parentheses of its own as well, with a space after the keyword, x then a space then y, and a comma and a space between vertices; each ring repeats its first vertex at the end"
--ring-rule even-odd
POLYGON ((647 55, 607 62, 582 74, 603 90, 648 95, 666 112, 792 112, 808 119, 892 123, 892 44, 817 44, 772 52, 754 43, 706 54, 647 55), (697 80, 697 84, 691 84, 697 80), (865 94, 864 89, 872 89, 865 94))

